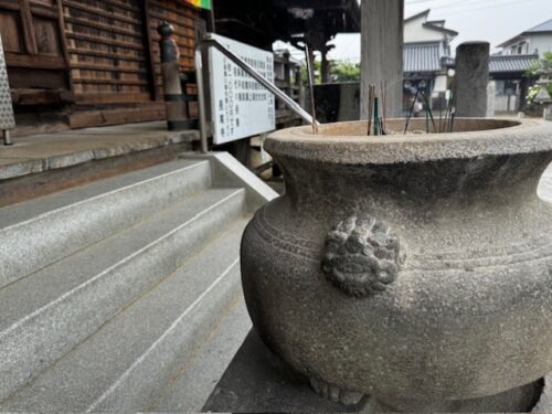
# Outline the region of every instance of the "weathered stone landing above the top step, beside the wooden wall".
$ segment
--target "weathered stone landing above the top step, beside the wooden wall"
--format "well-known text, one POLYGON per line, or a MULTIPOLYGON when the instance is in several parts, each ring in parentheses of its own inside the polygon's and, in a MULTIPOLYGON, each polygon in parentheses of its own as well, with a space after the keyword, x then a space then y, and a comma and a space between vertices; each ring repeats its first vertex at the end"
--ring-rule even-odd
POLYGON ((198 139, 163 121, 15 137, 0 144, 0 206, 173 160, 198 139))

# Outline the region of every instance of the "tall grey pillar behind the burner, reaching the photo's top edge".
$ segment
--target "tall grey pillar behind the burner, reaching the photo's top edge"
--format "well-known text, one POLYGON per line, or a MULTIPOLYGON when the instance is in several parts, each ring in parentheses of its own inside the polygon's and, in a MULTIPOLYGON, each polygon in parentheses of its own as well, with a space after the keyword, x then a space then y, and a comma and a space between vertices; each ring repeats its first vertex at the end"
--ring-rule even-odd
POLYGON ((386 117, 402 116, 404 0, 362 0, 360 119, 368 117, 368 88, 388 82, 386 117))

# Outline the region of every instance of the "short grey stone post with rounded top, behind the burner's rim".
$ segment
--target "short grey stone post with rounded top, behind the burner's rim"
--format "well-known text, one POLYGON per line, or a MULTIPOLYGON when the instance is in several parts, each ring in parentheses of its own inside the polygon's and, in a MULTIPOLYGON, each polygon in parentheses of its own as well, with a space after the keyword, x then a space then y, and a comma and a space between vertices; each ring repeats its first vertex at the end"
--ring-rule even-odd
POLYGON ((489 83, 487 42, 467 42, 456 49, 456 116, 487 116, 489 83))

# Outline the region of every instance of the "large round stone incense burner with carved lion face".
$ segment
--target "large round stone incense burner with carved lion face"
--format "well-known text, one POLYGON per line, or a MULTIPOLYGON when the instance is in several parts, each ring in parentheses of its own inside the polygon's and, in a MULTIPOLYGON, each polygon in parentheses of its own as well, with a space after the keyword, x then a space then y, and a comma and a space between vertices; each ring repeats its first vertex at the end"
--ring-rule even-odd
POLYGON ((365 130, 267 139, 286 194, 242 242, 256 330, 344 404, 367 394, 381 410, 531 410, 552 371, 552 204, 537 195, 552 123, 365 130))

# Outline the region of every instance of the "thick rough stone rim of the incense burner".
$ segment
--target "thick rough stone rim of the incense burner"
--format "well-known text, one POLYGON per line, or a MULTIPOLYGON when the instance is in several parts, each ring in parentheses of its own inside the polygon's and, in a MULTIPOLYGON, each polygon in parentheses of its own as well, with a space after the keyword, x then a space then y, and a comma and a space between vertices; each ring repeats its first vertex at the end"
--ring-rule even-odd
MULTIPOLYGON (((404 119, 389 119, 389 126, 404 127, 404 119)), ((415 119, 412 127, 425 124, 415 119)), ((458 118, 455 132, 368 136, 367 121, 310 126, 275 131, 265 149, 276 158, 341 164, 389 164, 511 156, 552 151, 552 123, 535 119, 458 118), (474 129, 481 126, 485 129, 474 129), (364 135, 362 135, 364 134, 364 135)))

